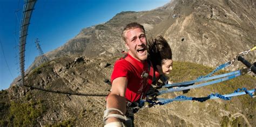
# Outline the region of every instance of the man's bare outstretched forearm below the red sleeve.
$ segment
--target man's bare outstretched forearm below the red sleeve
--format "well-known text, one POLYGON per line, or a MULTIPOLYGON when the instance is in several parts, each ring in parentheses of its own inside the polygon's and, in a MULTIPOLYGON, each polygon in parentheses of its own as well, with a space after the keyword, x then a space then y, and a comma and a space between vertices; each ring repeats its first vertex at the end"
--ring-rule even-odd
MULTIPOLYGON (((126 100, 125 90, 127 87, 126 77, 118 77, 112 81, 111 93, 107 97, 106 108, 116 108, 125 114, 126 112, 126 100)), ((118 111, 112 111, 110 114, 120 114, 118 111)), ((119 119, 111 117, 108 118, 106 123, 118 122, 119 119)))

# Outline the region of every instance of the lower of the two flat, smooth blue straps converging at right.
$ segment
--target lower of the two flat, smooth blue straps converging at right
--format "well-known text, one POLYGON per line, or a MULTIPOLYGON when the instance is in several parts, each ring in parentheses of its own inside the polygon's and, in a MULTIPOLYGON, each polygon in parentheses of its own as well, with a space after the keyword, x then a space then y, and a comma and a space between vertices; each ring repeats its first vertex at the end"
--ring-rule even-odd
POLYGON ((224 77, 222 79, 210 81, 210 82, 205 82, 205 83, 201 83, 201 84, 197 84, 197 85, 193 85, 193 86, 188 86, 188 87, 170 88, 170 89, 167 89, 167 90, 161 90, 161 91, 159 91, 158 95, 165 94, 165 93, 171 93, 171 92, 174 92, 174 91, 182 91, 182 90, 187 90, 187 89, 192 89, 192 88, 204 87, 204 86, 208 86, 210 84, 219 83, 219 82, 223 82, 223 81, 226 81, 226 80, 231 80, 234 77, 237 77, 237 76, 240 76, 240 75, 241 75, 241 72, 239 71, 238 74, 234 74, 234 75, 224 77))

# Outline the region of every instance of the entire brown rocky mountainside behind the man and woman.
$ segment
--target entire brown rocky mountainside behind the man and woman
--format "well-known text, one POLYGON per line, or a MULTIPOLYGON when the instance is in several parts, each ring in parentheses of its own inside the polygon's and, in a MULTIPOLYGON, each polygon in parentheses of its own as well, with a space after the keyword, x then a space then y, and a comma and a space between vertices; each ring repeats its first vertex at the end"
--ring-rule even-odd
MULTIPOLYGON (((100 126, 114 61, 125 50, 121 32, 130 22, 143 24, 147 38, 162 34, 173 52, 173 82, 196 79, 256 45, 256 1, 178 1, 150 11, 120 12, 108 22, 82 29, 65 45, 46 53, 26 70, 25 84, 0 91, 0 126, 100 126), (204 66, 203 66, 204 65, 204 66), (206 67, 207 66, 207 67, 206 67), (210 66, 210 67, 209 67, 210 66)), ((256 53, 245 58, 256 61, 256 53)), ((235 61, 226 68, 244 67, 235 61)), ((218 74, 226 73, 221 70, 218 74)), ((245 74, 210 87, 175 92, 203 97, 253 89, 255 75, 245 74)), ((248 95, 231 101, 172 102, 136 114, 138 126, 255 126, 255 103, 248 95)))

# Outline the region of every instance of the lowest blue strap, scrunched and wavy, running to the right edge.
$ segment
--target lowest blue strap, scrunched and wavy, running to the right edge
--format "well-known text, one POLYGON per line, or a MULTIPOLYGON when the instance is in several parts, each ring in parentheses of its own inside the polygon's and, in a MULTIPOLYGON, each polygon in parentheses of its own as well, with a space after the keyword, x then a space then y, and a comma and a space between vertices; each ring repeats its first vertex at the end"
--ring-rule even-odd
POLYGON ((253 97, 253 93, 255 92, 255 89, 251 89, 251 90, 247 90, 246 88, 239 88, 238 90, 235 90, 234 93, 231 94, 226 94, 226 95, 221 95, 218 93, 215 94, 211 94, 208 95, 207 97, 187 97, 187 96, 177 96, 175 98, 172 99, 165 99, 165 98, 157 98, 157 102, 156 101, 152 101, 152 100, 142 100, 143 103, 148 102, 151 104, 151 107, 153 105, 164 105, 167 103, 171 103, 173 101, 199 101, 199 102, 204 102, 206 100, 209 99, 216 99, 216 98, 221 98, 222 100, 231 100, 231 97, 233 96, 240 96, 240 95, 245 95, 245 94, 249 94, 251 97, 253 97))

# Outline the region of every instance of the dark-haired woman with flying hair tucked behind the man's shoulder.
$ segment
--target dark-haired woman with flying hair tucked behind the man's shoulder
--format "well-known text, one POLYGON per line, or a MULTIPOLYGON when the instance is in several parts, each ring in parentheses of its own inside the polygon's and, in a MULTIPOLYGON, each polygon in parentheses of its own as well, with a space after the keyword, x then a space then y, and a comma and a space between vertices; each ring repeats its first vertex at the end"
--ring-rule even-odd
POLYGON ((170 83, 165 74, 170 74, 172 70, 172 50, 170 45, 160 34, 156 39, 148 41, 149 59, 154 68, 154 77, 152 84, 161 87, 161 85, 170 83), (157 83, 161 80, 163 84, 157 83))

